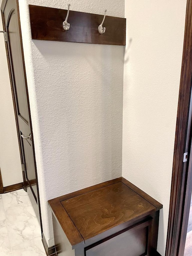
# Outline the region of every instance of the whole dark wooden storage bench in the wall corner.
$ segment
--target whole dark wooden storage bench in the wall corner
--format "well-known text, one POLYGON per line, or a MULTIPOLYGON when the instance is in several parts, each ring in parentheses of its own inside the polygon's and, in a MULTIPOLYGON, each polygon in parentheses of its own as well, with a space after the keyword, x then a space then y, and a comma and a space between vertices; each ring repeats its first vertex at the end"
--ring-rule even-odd
POLYGON ((160 255, 162 205, 124 178, 49 200, 49 205, 58 256, 160 255))

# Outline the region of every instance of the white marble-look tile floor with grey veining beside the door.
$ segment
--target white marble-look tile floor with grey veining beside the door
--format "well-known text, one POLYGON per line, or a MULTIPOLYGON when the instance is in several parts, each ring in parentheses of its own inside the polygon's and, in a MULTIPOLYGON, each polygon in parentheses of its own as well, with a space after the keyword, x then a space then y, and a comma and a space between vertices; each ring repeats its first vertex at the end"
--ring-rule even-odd
POLYGON ((0 194, 0 256, 46 256, 28 194, 0 194))

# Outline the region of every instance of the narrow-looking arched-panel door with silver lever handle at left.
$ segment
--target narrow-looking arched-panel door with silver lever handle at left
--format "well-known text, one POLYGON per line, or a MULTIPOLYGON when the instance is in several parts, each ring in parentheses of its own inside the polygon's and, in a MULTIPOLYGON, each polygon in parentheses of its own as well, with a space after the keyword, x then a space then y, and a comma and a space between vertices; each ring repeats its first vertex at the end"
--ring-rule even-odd
POLYGON ((29 97, 22 49, 17 0, 6 0, 1 5, 4 30, 7 33, 7 61, 10 71, 13 103, 17 122, 20 154, 24 172, 24 186, 40 221, 38 180, 29 108, 29 97))

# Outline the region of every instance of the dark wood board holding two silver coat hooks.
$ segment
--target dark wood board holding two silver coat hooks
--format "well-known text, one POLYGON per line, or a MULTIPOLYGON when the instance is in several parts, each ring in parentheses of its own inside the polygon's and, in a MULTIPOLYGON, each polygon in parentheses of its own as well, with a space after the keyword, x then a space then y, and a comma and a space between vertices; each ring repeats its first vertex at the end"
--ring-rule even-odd
POLYGON ((70 29, 63 29, 67 10, 29 5, 32 39, 90 44, 125 45, 126 19, 106 16, 104 34, 98 32, 104 15, 69 11, 70 29))

